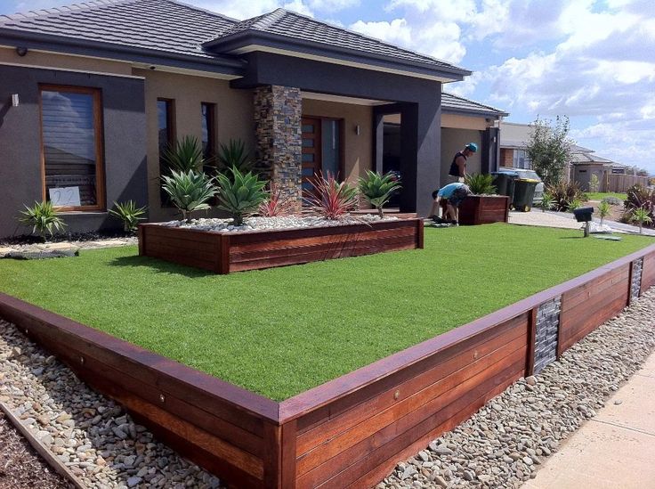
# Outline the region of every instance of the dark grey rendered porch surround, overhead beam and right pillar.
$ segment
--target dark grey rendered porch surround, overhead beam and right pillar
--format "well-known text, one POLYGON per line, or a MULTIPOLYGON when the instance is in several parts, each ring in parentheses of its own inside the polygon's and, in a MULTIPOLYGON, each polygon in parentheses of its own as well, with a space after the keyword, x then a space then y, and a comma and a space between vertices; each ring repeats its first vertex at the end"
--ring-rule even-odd
MULTIPOLYGON (((440 82, 272 53, 249 53, 247 61, 246 76, 233 80, 231 86, 295 86, 321 94, 394 102, 392 108, 378 106, 376 109, 401 114, 400 209, 416 211, 419 215, 428 214, 432 205, 431 193, 440 183, 440 82)), ((378 122, 381 113, 376 111, 378 122)), ((377 138, 381 133, 378 128, 376 126, 377 138)), ((371 151, 379 151, 378 143, 374 141, 375 148, 371 151)), ((377 166, 376 159, 374 167, 377 166)))

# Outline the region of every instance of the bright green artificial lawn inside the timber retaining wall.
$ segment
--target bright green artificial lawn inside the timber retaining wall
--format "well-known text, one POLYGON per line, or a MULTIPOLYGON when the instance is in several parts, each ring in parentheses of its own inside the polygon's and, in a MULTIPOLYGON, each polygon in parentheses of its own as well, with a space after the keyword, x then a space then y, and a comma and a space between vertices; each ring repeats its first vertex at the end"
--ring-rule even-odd
POLYGON ((0 289, 279 401, 655 242, 581 235, 426 228, 423 250, 230 275, 101 249, 0 260, 0 289))

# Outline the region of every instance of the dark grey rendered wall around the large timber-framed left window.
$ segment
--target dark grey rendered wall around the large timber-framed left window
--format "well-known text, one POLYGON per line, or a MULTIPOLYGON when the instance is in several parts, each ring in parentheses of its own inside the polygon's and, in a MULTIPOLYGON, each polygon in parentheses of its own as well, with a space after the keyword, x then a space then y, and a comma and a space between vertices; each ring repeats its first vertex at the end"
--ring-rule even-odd
MULTIPOLYGON (((29 232, 16 217, 23 204, 42 199, 38 85, 101 89, 105 189, 113 202, 148 202, 146 116, 142 79, 0 65, 0 237, 29 232), (12 107, 12 94, 20 105, 12 107)), ((119 228, 107 212, 63 215, 67 231, 119 228)))

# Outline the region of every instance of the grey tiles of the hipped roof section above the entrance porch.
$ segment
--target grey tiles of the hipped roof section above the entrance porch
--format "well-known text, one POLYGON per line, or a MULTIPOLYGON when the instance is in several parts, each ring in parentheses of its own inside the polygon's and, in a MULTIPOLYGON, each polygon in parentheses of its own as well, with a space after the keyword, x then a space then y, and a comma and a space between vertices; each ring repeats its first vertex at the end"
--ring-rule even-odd
POLYGON ((277 9, 271 13, 234 24, 230 29, 218 34, 211 44, 220 44, 223 40, 227 40, 228 37, 236 37, 239 34, 247 32, 262 32, 281 37, 290 37, 295 40, 326 45, 327 47, 338 47, 352 50, 353 52, 423 63, 431 65, 433 68, 466 71, 445 61, 426 56, 425 54, 402 49, 398 46, 374 39, 373 37, 363 36, 357 32, 338 28, 326 22, 311 19, 311 17, 296 12, 289 12, 285 9, 277 9))

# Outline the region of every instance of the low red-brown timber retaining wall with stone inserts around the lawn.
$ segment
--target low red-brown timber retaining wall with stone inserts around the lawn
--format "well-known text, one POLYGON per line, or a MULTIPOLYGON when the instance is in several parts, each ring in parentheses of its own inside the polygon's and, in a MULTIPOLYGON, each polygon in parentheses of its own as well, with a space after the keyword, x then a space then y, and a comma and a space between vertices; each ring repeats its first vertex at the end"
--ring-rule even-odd
POLYGON ((4 294, 0 317, 230 485, 367 487, 654 284, 651 245, 281 403, 4 294))

